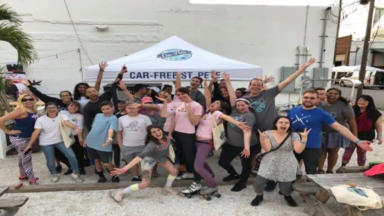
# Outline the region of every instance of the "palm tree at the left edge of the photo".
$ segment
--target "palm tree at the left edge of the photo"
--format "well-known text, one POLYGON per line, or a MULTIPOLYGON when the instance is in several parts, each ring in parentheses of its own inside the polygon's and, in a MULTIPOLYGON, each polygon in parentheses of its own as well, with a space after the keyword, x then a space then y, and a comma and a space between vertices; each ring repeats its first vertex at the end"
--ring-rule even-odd
MULTIPOLYGON (((10 43, 17 50, 17 63, 28 65, 38 59, 31 36, 22 31, 22 18, 5 3, 0 4, 0 40, 10 43)), ((9 110, 5 97, 4 67, 0 68, 0 116, 9 110)))

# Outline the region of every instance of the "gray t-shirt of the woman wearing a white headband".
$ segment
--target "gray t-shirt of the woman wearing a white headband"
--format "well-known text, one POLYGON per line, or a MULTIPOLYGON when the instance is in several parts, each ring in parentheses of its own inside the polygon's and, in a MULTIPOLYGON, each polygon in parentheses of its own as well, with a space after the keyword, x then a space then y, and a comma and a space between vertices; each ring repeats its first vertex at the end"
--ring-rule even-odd
MULTIPOLYGON (((256 117, 252 112, 240 113, 237 109, 232 108, 232 113, 230 116, 239 122, 246 122, 247 125, 254 127, 256 124, 256 117)), ((227 138, 228 143, 233 146, 244 146, 244 133, 240 128, 232 123, 227 123, 227 138)), ((250 146, 253 146, 258 143, 258 138, 256 133, 252 130, 252 135, 250 137, 250 146)))

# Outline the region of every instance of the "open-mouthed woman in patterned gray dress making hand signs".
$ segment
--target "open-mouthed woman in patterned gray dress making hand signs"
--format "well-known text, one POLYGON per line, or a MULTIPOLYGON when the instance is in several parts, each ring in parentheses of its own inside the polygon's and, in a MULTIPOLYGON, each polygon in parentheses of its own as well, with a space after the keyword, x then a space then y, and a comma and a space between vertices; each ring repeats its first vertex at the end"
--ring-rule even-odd
POLYGON ((305 148, 308 132, 311 130, 304 129, 299 132, 300 136, 291 132, 291 123, 289 118, 278 116, 273 122, 273 130, 261 132, 260 143, 265 154, 261 159, 260 167, 257 172, 256 179, 253 183, 253 189, 256 197, 250 203, 257 206, 263 200, 264 185, 268 180, 278 182, 280 192, 284 195, 284 199, 290 206, 297 206, 290 193, 291 182, 296 179, 297 160, 294 157, 293 149, 296 152, 302 152, 305 148))

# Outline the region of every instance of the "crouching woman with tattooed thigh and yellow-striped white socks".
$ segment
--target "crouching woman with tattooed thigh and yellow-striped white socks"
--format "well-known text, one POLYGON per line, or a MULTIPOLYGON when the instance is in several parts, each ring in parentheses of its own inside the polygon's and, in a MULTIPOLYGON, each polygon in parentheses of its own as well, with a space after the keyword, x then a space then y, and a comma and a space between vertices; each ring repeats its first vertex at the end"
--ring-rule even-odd
POLYGON ((169 173, 164 185, 164 192, 177 195, 178 192, 171 186, 178 174, 178 171, 170 159, 167 158, 169 146, 172 144, 171 142, 172 140, 164 134, 160 126, 154 124, 149 125, 147 127, 147 134, 145 137, 144 150, 123 168, 114 168, 115 170, 110 172, 111 176, 118 176, 119 174, 132 168, 137 163, 141 162, 141 182, 138 184, 132 184, 122 190, 117 190, 114 193, 110 193, 110 196, 113 197, 115 201, 121 202, 124 194, 148 187, 152 169, 156 164, 165 168, 169 173))

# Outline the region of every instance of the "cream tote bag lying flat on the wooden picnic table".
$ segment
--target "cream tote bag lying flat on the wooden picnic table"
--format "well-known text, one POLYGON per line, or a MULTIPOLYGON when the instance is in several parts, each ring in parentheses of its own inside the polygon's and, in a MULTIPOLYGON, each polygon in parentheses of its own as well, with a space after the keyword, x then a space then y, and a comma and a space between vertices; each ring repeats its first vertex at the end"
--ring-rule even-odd
POLYGON ((338 202, 354 205, 360 210, 382 207, 380 196, 369 188, 344 184, 333 186, 330 190, 338 202))

